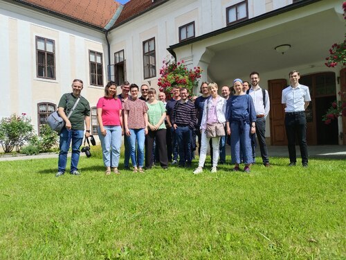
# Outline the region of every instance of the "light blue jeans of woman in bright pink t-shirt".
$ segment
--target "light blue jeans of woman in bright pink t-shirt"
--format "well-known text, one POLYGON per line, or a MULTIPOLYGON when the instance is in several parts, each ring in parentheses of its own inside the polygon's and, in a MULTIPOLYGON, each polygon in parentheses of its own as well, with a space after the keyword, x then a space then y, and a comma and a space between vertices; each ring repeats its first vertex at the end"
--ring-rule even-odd
POLYGON ((121 126, 104 125, 106 136, 104 137, 98 128, 98 137, 100 137, 102 146, 102 158, 104 166, 118 167, 120 159, 121 146, 121 126))

